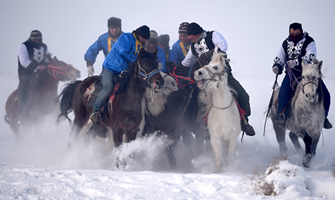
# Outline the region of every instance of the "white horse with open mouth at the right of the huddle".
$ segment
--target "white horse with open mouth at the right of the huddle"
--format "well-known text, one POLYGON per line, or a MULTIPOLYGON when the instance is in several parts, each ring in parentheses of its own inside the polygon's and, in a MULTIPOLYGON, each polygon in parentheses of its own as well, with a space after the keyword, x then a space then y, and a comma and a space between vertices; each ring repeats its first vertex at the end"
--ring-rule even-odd
POLYGON ((239 109, 228 85, 226 54, 215 53, 209 65, 194 72, 198 87, 202 89, 199 100, 208 113, 208 128, 215 154, 217 172, 232 162, 241 132, 239 109), (226 151, 224 144, 226 142, 226 151))

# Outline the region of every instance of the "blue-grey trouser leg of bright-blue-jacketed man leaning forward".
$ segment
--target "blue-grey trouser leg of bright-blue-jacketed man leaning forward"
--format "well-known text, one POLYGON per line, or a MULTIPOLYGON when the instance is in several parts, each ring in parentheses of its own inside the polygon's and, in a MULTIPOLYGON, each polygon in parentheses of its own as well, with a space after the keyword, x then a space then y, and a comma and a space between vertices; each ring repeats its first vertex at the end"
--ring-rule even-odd
POLYGON ((106 68, 103 68, 102 74, 103 89, 96 98, 96 102, 94 103, 94 111, 100 111, 103 104, 105 104, 106 100, 109 98, 109 96, 111 96, 114 88, 113 78, 116 74, 107 70, 106 68))

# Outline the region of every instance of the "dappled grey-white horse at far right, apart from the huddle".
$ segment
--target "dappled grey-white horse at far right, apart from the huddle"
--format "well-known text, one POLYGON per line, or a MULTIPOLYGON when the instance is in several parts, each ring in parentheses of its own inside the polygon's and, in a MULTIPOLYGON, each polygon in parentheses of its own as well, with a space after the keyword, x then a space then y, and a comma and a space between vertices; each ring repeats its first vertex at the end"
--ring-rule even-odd
MULTIPOLYGON (((280 147, 280 154, 287 153, 285 143, 285 132, 289 133, 290 139, 298 154, 304 154, 298 139, 302 138, 305 143, 305 154, 302 161, 304 167, 310 167, 319 142, 321 129, 325 119, 323 108, 323 95, 321 88, 321 66, 322 61, 315 59, 313 63, 302 61, 302 81, 297 86, 297 98, 291 105, 291 112, 286 119, 286 126, 282 128, 275 121, 277 104, 271 106, 271 120, 276 131, 277 141, 280 147)), ((279 89, 275 91, 273 99, 278 98, 279 89)), ((295 99, 295 98, 293 98, 295 99)))

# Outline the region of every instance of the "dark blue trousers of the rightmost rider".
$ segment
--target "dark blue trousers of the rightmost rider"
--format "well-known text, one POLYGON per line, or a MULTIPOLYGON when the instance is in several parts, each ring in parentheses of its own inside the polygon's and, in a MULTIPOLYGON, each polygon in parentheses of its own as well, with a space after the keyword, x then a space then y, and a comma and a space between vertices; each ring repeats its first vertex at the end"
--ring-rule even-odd
MULTIPOLYGON (((325 117, 327 117, 330 109, 330 92, 328 91, 322 79, 321 79, 321 87, 323 91, 323 107, 325 109, 325 117)), ((291 100, 292 94, 293 89, 291 87, 290 77, 289 75, 285 74, 285 77, 282 80, 282 85, 280 85, 277 113, 282 113, 284 111, 285 106, 289 104, 289 101, 291 100)), ((286 117, 289 117, 289 109, 286 109, 284 115, 286 117)))

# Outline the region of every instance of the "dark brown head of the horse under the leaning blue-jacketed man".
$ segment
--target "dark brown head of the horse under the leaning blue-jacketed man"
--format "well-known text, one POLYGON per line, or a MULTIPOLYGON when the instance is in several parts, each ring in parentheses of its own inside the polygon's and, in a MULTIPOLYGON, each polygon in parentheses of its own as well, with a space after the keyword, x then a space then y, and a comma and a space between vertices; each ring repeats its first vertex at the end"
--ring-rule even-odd
POLYGON ((164 79, 158 70, 157 50, 154 53, 148 53, 144 48, 139 51, 137 61, 135 61, 134 73, 142 81, 148 83, 149 87, 155 92, 160 92, 164 86, 164 79))

